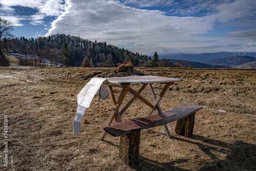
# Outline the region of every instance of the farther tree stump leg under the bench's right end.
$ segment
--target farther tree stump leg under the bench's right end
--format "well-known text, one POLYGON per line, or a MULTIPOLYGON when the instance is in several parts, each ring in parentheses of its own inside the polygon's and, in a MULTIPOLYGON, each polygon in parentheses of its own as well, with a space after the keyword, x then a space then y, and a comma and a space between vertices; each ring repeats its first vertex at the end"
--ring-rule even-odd
POLYGON ((190 137, 193 134, 194 122, 195 122, 195 113, 177 120, 176 126, 175 126, 175 132, 178 135, 190 137))

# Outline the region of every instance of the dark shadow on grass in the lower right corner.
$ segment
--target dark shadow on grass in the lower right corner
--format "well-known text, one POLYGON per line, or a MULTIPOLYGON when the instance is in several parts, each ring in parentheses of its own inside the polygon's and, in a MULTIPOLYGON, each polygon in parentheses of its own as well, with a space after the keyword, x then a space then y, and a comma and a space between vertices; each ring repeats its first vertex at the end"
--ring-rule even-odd
POLYGON ((226 143, 223 141, 213 140, 199 135, 193 135, 190 140, 173 137, 179 141, 184 141, 197 145, 212 162, 205 164, 199 170, 256 170, 256 145, 245 143, 243 141, 235 141, 234 143, 226 143), (204 143, 195 142, 193 140, 202 141, 204 143), (212 147, 216 145, 218 147, 212 147), (211 151, 218 151, 227 154, 224 160, 220 160, 211 151))

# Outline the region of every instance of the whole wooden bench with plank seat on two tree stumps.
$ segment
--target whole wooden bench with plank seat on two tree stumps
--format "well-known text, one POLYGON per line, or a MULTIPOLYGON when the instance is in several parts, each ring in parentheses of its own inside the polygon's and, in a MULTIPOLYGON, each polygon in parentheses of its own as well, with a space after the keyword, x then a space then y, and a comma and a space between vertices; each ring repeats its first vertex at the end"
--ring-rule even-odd
POLYGON ((125 164, 132 165, 139 161, 140 130, 177 121, 175 132, 178 135, 190 137, 193 134, 195 112, 200 109, 202 109, 201 106, 186 103, 157 115, 106 126, 104 130, 115 137, 121 136, 119 157, 125 164))

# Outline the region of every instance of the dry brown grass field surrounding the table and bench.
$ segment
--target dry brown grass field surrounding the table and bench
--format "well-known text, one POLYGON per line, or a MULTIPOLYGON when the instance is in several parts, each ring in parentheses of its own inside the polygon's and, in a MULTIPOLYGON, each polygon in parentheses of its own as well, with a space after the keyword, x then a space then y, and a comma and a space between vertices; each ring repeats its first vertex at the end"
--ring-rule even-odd
MULTIPOLYGON (((256 70, 137 69, 144 75, 183 78, 170 86, 162 111, 183 103, 206 106, 196 113, 193 136, 178 136, 175 122, 141 131, 140 163, 118 157, 119 137, 98 138, 111 112, 111 100, 94 97, 78 136, 72 122, 77 94, 94 76, 127 76, 106 69, 0 68, 1 142, 8 116, 8 167, 0 144, 0 170, 256 170, 256 70)), ((153 84, 156 94, 163 87, 153 84)), ((135 90, 139 86, 133 87, 135 90)), ((114 88, 115 95, 120 92, 114 88)), ((146 88, 141 95, 152 98, 146 88)), ((132 96, 126 95, 125 102, 132 96)), ((136 100, 123 120, 149 108, 136 100)))

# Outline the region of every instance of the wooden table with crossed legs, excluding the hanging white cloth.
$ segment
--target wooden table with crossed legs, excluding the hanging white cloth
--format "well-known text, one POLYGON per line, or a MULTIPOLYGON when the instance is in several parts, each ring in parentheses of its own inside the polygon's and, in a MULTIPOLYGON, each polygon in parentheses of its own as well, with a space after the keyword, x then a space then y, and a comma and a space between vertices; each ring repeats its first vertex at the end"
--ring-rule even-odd
MULTIPOLYGON (((106 78, 106 80, 103 82, 108 87, 110 98, 113 104, 113 110, 111 112, 111 115, 106 122, 105 126, 111 125, 112 121, 116 117, 117 122, 121 122, 121 116, 122 114, 129 108, 129 106, 134 102, 135 99, 139 99, 142 102, 144 102, 146 105, 150 106, 150 110, 147 112, 146 116, 150 116, 154 111, 158 111, 161 113, 161 108, 159 106, 160 100, 163 98, 164 94, 168 90, 168 87, 170 84, 174 84, 174 82, 182 81, 182 79, 177 78, 167 78, 167 77, 158 77, 158 76, 130 76, 130 77, 114 77, 114 78, 106 78), (157 96, 154 92, 154 89, 152 87, 152 83, 163 83, 165 86, 163 87, 160 94, 157 96), (131 88, 134 84, 142 84, 140 89, 136 92, 131 88), (145 89, 145 87, 148 85, 150 88, 151 94, 153 96, 154 103, 150 103, 147 101, 144 97, 140 95, 140 93, 145 89), (116 98, 114 96, 113 88, 112 87, 119 87, 121 88, 121 93, 119 97, 116 98), (133 97, 123 106, 123 108, 119 111, 119 108, 121 106, 121 103, 126 95, 126 93, 129 92, 133 94, 133 97)), ((171 138, 169 130, 167 125, 163 125, 165 133, 168 138, 171 138)), ((100 135, 100 140, 103 140, 106 135, 106 132, 103 130, 100 135)))

